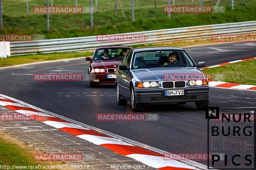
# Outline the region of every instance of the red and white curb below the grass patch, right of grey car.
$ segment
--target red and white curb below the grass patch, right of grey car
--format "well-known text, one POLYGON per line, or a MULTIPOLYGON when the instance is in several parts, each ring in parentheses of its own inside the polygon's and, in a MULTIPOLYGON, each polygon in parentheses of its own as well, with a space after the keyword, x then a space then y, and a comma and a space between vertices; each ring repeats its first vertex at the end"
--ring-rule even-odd
POLYGON ((256 85, 240 85, 236 83, 226 83, 223 81, 209 81, 209 86, 239 90, 256 90, 256 85))

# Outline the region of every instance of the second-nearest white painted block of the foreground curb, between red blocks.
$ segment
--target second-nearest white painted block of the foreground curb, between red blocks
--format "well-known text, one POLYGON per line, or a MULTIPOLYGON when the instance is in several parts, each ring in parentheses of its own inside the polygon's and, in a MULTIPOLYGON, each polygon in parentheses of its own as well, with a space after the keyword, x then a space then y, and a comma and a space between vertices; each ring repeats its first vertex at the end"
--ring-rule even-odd
POLYGON ((78 135, 77 137, 82 138, 84 140, 87 140, 93 144, 101 145, 101 144, 121 144, 121 145, 129 145, 134 146, 132 144, 128 144, 126 142, 123 142, 119 139, 113 138, 113 137, 101 137, 101 136, 95 136, 95 135, 78 135))

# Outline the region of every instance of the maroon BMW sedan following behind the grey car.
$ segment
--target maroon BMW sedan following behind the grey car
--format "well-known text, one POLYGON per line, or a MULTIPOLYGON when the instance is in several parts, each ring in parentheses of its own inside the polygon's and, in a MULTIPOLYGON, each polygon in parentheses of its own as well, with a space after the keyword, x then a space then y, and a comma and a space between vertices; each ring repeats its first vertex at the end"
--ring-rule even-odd
POLYGON ((123 59, 128 46, 98 47, 92 58, 86 57, 89 64, 90 87, 99 84, 115 84, 116 68, 123 59))

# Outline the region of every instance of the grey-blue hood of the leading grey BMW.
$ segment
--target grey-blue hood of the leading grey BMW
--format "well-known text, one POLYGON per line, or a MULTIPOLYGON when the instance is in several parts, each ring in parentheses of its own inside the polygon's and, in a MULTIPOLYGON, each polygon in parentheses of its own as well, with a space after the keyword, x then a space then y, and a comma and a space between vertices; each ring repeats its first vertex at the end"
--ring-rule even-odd
POLYGON ((132 70, 141 81, 170 81, 203 79, 204 74, 196 67, 156 67, 132 70))

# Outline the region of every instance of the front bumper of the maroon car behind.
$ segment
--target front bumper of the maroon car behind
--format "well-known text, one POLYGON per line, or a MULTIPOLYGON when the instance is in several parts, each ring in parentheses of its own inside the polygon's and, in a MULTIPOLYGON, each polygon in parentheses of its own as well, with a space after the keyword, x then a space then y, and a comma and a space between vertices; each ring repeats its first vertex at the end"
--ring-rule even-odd
POLYGON ((90 83, 92 84, 115 84, 116 78, 107 78, 107 75, 116 75, 115 73, 92 74, 90 73, 90 83), (94 80, 97 81, 94 81, 94 80))

